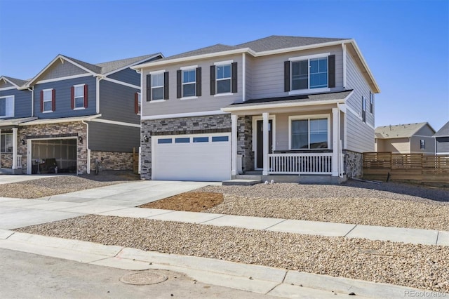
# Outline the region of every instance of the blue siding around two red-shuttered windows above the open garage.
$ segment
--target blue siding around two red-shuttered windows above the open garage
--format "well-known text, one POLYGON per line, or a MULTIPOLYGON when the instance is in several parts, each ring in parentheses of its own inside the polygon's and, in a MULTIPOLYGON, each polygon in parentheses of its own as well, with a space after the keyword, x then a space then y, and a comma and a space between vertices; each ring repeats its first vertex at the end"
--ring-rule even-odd
POLYGON ((92 115, 96 112, 96 92, 95 77, 81 77, 61 81, 36 84, 34 86, 34 116, 40 119, 55 119, 59 117, 81 117, 92 115), (72 110, 72 86, 77 84, 88 85, 88 107, 86 109, 72 110), (54 88, 56 101, 55 112, 41 112, 41 91, 47 88, 54 88))

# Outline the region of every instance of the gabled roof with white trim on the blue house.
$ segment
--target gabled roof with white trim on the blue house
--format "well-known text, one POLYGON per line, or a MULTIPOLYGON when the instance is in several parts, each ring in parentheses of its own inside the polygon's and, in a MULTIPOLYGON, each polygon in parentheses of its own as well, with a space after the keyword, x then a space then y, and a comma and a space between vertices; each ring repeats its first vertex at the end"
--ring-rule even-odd
POLYGON ((145 60, 149 60, 149 59, 155 58, 157 56, 163 57, 163 55, 161 53, 154 53, 154 54, 149 54, 149 55, 138 56, 135 58, 126 58, 126 59, 122 59, 122 60, 101 62, 101 63, 97 63, 94 65, 94 64, 91 64, 88 62, 84 62, 82 60, 78 60, 78 59, 71 58, 66 55, 59 54, 53 60, 51 60, 51 62, 46 67, 44 67, 41 70, 41 72, 39 72, 39 74, 36 74, 36 76, 34 76, 32 79, 30 79, 27 83, 27 86, 30 86, 32 83, 37 81, 37 79, 39 79, 39 77, 41 77, 41 74, 46 72, 46 70, 48 68, 50 68, 51 65, 53 65, 56 61, 58 61, 58 59, 66 60, 66 61, 72 63, 73 65, 76 65, 77 67, 80 67, 81 69, 84 69, 86 72, 91 73, 93 76, 96 76, 96 75, 102 75, 102 74, 110 74, 114 71, 118 71, 125 67, 131 67, 139 62, 144 62, 145 60))

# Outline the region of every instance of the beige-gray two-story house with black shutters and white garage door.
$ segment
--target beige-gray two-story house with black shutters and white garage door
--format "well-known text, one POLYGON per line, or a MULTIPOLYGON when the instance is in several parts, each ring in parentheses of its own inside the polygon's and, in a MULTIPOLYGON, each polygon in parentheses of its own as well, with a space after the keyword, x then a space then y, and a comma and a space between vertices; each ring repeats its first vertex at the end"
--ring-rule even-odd
POLYGON ((269 36, 132 68, 142 74, 142 178, 256 170, 341 181, 360 176, 374 150, 380 88, 353 39, 269 36))

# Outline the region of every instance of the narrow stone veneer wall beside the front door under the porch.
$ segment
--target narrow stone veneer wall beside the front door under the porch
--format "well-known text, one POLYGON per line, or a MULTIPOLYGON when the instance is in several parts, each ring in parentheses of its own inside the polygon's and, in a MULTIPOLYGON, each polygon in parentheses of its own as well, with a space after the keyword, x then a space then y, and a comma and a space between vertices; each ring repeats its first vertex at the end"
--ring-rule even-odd
POLYGON ((237 119, 237 154, 242 155, 242 170, 254 170, 253 117, 237 119))

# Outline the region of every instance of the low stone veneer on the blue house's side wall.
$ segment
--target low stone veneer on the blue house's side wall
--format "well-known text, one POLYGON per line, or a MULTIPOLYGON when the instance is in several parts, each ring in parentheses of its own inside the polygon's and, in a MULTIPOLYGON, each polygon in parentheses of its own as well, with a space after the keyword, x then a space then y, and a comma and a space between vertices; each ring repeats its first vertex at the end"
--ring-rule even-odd
POLYGON ((98 152, 91 151, 91 172, 95 170, 95 160, 102 161, 102 170, 107 171, 129 171, 133 170, 132 152, 98 152))

